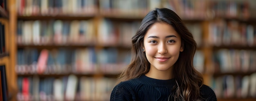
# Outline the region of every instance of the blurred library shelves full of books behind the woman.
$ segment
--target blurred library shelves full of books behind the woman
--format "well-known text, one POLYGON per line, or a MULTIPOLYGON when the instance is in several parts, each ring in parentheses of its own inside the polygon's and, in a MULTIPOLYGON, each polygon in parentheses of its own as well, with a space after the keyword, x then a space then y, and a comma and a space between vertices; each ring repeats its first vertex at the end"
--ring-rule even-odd
POLYGON ((109 101, 130 63, 131 37, 149 11, 163 7, 175 11, 193 34, 193 65, 218 101, 256 101, 256 0, 0 4, 0 65, 6 67, 11 101, 109 101))

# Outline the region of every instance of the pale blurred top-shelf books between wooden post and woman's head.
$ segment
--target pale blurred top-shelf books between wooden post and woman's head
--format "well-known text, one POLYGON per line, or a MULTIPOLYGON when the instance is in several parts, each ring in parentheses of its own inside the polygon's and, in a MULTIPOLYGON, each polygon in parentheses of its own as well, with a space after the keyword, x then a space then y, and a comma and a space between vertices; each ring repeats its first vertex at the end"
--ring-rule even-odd
POLYGON ((105 16, 143 17, 148 13, 147 5, 148 0, 99 0, 99 11, 105 16))

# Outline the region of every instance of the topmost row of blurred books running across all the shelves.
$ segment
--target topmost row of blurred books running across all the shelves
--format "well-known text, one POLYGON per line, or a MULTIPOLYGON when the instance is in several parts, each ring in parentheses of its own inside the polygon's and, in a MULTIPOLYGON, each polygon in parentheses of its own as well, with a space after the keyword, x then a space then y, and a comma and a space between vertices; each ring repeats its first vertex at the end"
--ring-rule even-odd
POLYGON ((205 19, 219 16, 248 18, 249 3, 247 0, 18 0, 16 4, 18 14, 22 16, 97 13, 144 16, 150 10, 165 7, 186 19, 205 19))

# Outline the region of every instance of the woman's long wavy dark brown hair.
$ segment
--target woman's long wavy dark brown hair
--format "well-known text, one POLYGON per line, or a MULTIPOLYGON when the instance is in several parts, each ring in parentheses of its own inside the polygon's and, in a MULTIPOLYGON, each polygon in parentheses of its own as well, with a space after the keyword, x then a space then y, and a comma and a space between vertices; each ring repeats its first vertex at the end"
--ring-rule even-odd
POLYGON ((119 76, 119 82, 137 78, 142 74, 148 73, 150 63, 142 48, 147 30, 156 22, 164 22, 173 26, 176 32, 180 34, 184 49, 183 52, 180 52, 179 58, 173 66, 172 75, 177 84, 173 87, 172 96, 178 101, 201 99, 199 89, 203 84, 203 77, 193 67, 193 57, 197 44, 192 34, 182 22, 182 19, 174 11, 166 8, 157 8, 150 11, 141 21, 141 26, 135 36, 132 37, 132 60, 128 68, 119 76))

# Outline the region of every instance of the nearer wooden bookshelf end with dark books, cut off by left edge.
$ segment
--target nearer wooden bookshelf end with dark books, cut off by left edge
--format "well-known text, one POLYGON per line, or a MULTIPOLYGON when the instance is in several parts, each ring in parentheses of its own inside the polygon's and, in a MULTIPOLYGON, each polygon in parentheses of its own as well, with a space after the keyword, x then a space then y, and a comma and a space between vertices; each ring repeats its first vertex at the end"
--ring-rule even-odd
MULTIPOLYGON (((1 23, 1 49, 0 49, 0 68, 1 68, 1 100, 15 101, 17 93, 15 64, 15 35, 11 30, 13 23, 12 13, 15 8, 12 8, 13 0, 0 1, 0 23, 1 23)), ((15 6, 14 6, 15 7, 15 6)))

